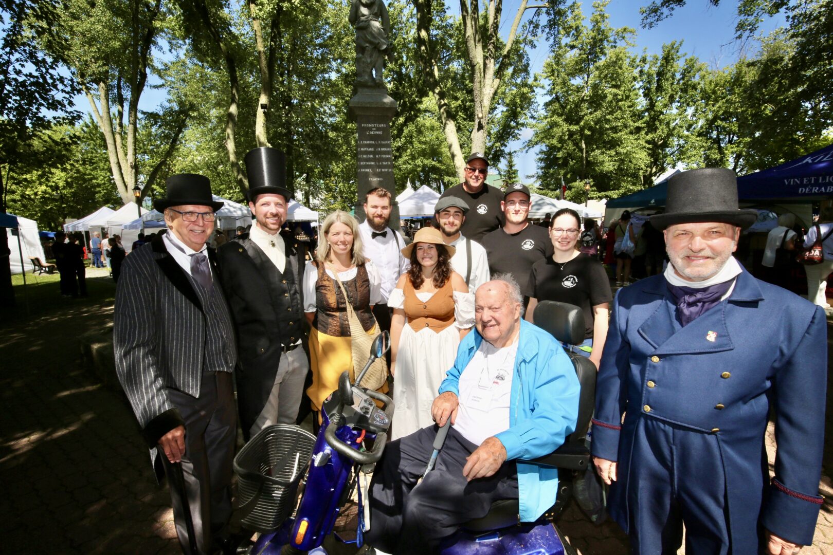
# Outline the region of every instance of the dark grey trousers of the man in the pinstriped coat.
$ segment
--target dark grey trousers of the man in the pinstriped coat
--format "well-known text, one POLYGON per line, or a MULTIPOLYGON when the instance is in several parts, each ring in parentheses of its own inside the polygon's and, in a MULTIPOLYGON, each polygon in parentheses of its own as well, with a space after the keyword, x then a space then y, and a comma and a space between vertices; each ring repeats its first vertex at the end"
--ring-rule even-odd
POLYGON ((232 460, 237 432, 232 388, 231 373, 203 372, 197 399, 167 389, 169 399, 185 420, 184 492, 177 488, 175 468, 161 453, 182 553, 191 553, 185 524, 186 503, 191 510, 198 553, 216 551, 212 548, 213 535, 232 516, 232 460))

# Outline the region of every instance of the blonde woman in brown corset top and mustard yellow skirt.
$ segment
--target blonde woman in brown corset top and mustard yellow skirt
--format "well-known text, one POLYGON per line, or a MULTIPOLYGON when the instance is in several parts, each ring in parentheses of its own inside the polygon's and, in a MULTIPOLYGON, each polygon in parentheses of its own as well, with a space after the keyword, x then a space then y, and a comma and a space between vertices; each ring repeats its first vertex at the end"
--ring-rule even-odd
MULTIPOLYGON (((320 411, 327 395, 338 389, 342 372, 353 368, 347 305, 336 274, 367 333, 377 331, 371 309, 382 301, 379 274, 362 254, 362 235, 356 219, 345 211, 332 212, 321 226, 320 237, 316 260, 307 262, 303 279, 304 311, 312 325, 312 385, 307 396, 315 411, 320 411)), ((383 386, 382 391, 385 390, 387 384, 383 386)))

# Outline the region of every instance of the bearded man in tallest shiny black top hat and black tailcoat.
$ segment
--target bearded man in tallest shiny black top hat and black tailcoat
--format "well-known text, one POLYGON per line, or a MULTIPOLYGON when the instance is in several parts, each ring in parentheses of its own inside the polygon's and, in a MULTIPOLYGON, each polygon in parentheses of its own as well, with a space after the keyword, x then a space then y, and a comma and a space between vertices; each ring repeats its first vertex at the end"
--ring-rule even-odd
POLYGON ((237 404, 246 439, 272 424, 294 424, 309 371, 302 345, 303 305, 297 241, 283 235, 286 161, 262 146, 246 155, 252 230, 218 250, 232 307, 240 370, 237 404))

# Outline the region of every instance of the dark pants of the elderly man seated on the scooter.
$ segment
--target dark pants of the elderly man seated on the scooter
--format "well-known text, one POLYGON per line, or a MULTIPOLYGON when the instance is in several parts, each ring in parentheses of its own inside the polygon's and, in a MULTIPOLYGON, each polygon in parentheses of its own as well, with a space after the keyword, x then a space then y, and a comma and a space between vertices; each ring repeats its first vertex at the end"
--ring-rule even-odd
POLYGON ((443 538, 489 512, 498 499, 518 496, 514 462, 488 478, 466 482, 462 469, 477 446, 451 428, 434 470, 417 486, 433 451, 436 425, 387 445, 373 473, 366 541, 387 553, 436 553, 443 538))

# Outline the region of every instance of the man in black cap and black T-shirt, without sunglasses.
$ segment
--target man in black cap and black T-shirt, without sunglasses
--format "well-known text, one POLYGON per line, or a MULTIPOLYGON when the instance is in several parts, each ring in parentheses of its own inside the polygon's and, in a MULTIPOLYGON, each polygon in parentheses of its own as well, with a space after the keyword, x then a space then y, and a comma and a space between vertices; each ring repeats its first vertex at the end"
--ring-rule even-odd
POLYGON ((486 247, 491 275, 513 275, 525 297, 529 296, 527 285, 532 265, 553 253, 549 232, 529 221, 530 206, 531 195, 525 185, 512 183, 506 186, 501 201, 506 224, 481 241, 486 247))

